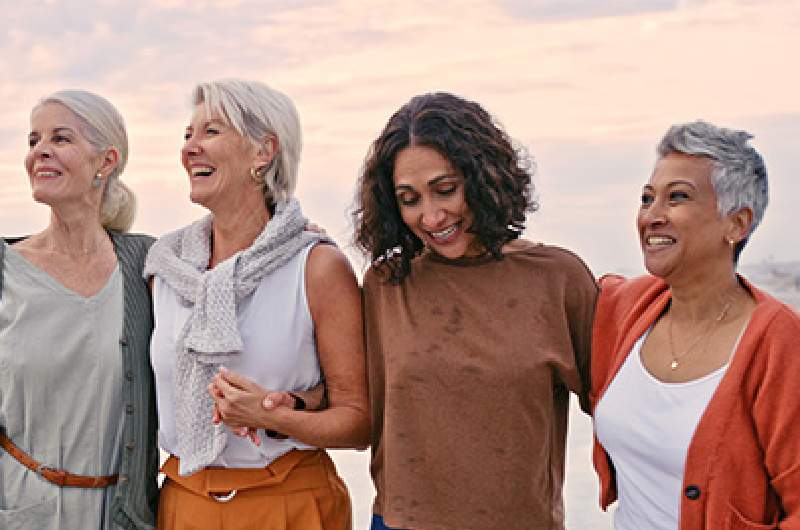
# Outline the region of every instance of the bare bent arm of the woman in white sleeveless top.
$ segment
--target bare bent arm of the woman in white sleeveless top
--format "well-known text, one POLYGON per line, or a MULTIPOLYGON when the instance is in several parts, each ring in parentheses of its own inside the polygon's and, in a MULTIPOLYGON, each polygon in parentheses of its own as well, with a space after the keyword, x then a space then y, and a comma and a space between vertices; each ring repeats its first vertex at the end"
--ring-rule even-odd
POLYGON ((306 293, 325 374, 328 408, 318 412, 262 406, 263 389, 232 372, 221 372, 211 389, 223 421, 232 427, 265 428, 319 447, 369 443, 361 294, 347 258, 329 245, 311 250, 306 293))

